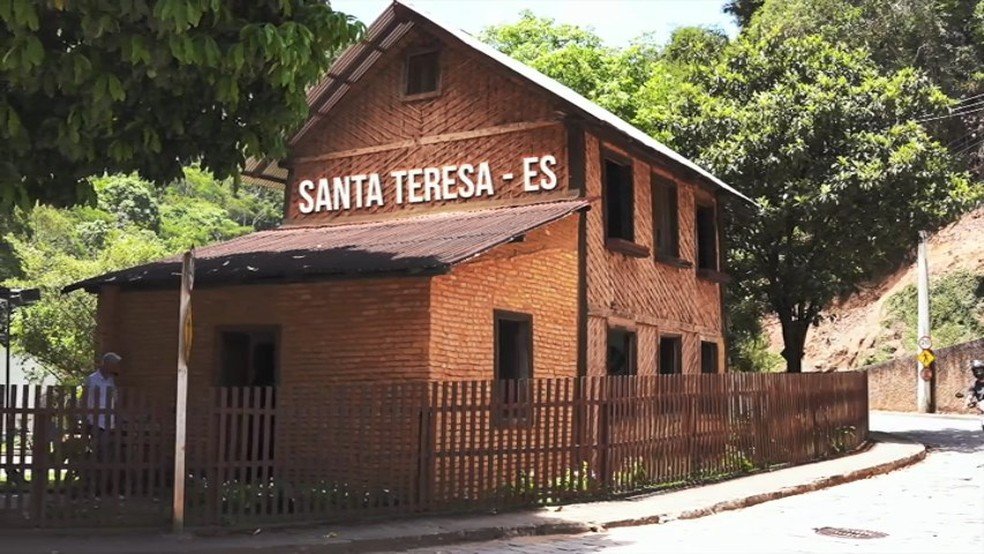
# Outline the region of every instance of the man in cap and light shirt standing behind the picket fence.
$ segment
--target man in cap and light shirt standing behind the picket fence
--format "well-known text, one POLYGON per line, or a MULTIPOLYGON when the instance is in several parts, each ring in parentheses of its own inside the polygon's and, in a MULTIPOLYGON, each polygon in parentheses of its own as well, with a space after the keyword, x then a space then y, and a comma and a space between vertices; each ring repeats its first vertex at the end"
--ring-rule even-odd
MULTIPOLYGON (((110 437, 116 424, 116 417, 109 412, 115 407, 113 402, 116 389, 116 375, 119 373, 120 362, 123 358, 115 352, 103 354, 102 363, 91 375, 85 378, 85 406, 89 409, 89 447, 95 461, 108 463, 111 461, 112 446, 110 437)), ((93 468, 95 469, 95 468, 93 468)), ((110 472, 99 471, 103 479, 99 479, 97 494, 102 492, 100 481, 108 481, 110 472)), ((93 476, 95 477, 95 476, 93 476)))

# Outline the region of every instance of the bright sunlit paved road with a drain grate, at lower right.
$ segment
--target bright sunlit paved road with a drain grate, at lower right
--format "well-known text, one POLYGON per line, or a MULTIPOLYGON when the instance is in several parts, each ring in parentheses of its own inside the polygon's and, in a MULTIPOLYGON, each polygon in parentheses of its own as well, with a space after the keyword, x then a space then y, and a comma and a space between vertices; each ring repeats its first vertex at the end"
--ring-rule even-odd
POLYGON ((908 434, 928 445, 929 455, 888 475, 701 519, 413 552, 984 553, 984 433, 978 422, 875 414, 871 427, 908 434), (815 532, 823 527, 886 536, 845 539, 815 532))

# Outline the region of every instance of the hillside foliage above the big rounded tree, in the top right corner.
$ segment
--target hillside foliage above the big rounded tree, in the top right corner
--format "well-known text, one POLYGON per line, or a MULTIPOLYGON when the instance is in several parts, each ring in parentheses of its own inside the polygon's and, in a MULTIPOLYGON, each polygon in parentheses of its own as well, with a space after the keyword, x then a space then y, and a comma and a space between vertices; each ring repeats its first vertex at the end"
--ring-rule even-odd
POLYGON ((924 114, 927 125, 984 177, 984 0, 768 0, 746 33, 820 35, 865 48, 880 67, 915 67, 968 102, 924 114), (963 113, 959 117, 941 117, 963 113))

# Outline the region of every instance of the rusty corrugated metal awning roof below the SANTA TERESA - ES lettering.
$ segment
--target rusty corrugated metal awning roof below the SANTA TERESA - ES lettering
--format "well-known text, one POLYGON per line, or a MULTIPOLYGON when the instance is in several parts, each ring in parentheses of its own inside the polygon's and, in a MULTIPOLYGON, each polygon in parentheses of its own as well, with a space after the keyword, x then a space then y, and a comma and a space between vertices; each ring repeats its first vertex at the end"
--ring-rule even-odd
MULTIPOLYGON (((404 219, 250 233, 195 251, 195 284, 293 282, 365 275, 434 275, 529 231, 588 208, 563 200, 404 219)), ((89 292, 177 287, 181 258, 79 281, 63 289, 89 292)))

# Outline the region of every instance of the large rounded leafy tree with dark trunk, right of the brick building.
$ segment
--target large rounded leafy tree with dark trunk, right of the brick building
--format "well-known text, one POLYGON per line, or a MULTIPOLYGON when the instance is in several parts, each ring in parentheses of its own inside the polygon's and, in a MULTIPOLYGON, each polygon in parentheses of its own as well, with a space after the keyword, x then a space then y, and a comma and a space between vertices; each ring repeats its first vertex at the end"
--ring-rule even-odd
POLYGON ((834 298, 980 198, 914 121, 948 101, 914 69, 774 33, 740 38, 688 82, 646 114, 673 114, 652 125, 761 205, 731 214, 729 265, 738 295, 778 316, 788 371, 834 298))

